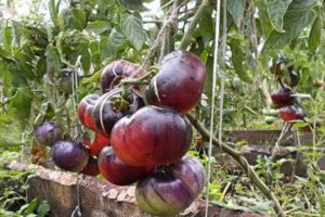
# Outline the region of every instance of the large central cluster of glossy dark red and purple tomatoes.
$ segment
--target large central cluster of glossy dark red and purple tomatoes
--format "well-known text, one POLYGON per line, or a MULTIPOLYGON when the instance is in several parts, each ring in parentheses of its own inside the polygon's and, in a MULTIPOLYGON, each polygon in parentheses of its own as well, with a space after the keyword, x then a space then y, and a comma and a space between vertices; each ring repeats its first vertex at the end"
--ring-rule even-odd
POLYGON ((198 103, 206 74, 198 56, 177 51, 166 55, 158 73, 140 88, 120 82, 145 77, 139 65, 112 62, 101 75, 102 93, 89 93, 77 108, 94 140, 84 136, 84 145, 56 141, 54 163, 66 170, 101 173, 118 186, 138 182, 135 199, 147 213, 166 216, 185 209, 206 182, 200 162, 184 156, 193 136, 184 114, 198 103), (140 89, 145 91, 141 94, 140 89))

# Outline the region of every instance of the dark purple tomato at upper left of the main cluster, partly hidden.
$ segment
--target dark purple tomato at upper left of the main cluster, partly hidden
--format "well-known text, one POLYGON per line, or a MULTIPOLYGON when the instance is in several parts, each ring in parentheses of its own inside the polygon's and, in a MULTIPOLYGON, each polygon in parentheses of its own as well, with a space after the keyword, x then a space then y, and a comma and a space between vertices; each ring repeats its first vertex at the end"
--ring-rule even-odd
POLYGON ((118 85, 126 77, 140 77, 145 72, 140 69, 140 65, 130 63, 125 60, 118 60, 109 63, 102 72, 101 88, 103 92, 107 92, 118 85))

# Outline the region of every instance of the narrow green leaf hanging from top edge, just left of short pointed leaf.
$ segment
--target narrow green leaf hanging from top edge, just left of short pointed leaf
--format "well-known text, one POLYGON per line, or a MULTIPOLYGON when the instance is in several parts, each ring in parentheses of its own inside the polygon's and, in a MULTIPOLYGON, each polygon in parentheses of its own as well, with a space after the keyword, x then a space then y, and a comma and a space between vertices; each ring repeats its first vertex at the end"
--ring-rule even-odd
POLYGON ((266 0, 257 1, 257 7, 259 10, 259 20, 261 23, 262 33, 265 39, 269 38, 269 35, 273 30, 273 25, 269 16, 266 0))

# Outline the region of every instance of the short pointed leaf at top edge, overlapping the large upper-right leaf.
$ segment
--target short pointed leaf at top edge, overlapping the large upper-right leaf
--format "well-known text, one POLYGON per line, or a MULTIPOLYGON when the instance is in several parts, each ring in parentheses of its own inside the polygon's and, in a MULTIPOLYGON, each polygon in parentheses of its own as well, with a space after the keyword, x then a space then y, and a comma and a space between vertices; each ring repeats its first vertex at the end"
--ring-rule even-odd
POLYGON ((284 31, 283 17, 292 0, 266 0, 270 20, 277 31, 284 31))

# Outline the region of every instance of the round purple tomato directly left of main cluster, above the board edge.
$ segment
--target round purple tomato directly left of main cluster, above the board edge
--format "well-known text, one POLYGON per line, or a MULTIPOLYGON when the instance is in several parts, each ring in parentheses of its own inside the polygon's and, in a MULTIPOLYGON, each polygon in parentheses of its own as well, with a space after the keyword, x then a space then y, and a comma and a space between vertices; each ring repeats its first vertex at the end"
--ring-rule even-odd
POLYGON ((55 142, 51 156, 56 166, 68 171, 81 171, 88 164, 87 149, 73 140, 55 142))

